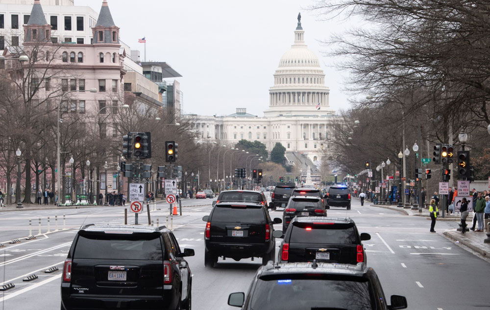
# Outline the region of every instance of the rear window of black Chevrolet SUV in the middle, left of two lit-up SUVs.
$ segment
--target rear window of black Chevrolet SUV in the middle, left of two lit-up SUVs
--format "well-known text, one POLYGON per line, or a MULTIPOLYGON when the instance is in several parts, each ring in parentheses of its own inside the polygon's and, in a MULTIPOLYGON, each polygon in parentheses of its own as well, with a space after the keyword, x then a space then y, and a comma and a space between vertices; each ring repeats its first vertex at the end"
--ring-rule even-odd
POLYGON ((257 206, 233 206, 216 205, 211 217, 213 222, 250 222, 265 223, 262 205, 257 206))

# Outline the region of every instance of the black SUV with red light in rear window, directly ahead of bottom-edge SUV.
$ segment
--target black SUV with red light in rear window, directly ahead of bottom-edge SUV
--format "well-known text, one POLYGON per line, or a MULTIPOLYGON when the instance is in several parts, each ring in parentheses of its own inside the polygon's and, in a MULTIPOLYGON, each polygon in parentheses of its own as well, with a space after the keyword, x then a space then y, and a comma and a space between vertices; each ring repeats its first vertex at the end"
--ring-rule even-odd
POLYGON ((278 262, 336 262, 366 263, 362 241, 371 236, 359 236, 356 224, 350 218, 296 217, 283 236, 276 231, 275 238, 283 238, 278 262))

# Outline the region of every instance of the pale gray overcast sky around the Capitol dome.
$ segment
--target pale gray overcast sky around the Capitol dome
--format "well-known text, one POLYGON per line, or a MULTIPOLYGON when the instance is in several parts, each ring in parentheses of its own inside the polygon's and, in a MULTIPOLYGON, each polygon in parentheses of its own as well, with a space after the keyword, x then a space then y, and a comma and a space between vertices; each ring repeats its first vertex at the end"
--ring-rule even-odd
MULTIPOLYGON (((319 57, 330 87, 330 106, 347 107, 341 72, 334 59, 321 55, 319 40, 340 31, 334 22, 318 21, 304 9, 310 0, 108 0, 121 39, 147 60, 165 61, 182 77, 184 111, 226 115, 237 107, 263 116, 279 59, 294 42, 298 12, 308 47, 319 57)), ((75 0, 100 10, 102 0, 75 0)), ((338 22, 337 22, 338 23, 338 22)), ((342 25, 341 25, 342 26, 342 25)))

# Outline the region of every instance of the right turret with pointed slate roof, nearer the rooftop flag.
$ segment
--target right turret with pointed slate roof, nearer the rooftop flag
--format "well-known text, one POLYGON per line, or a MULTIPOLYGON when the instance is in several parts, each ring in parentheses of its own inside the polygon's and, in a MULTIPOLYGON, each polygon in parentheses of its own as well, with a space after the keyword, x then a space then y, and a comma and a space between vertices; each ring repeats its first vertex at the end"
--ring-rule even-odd
POLYGON ((93 44, 119 44, 119 27, 114 24, 107 0, 102 1, 98 20, 92 27, 93 44))

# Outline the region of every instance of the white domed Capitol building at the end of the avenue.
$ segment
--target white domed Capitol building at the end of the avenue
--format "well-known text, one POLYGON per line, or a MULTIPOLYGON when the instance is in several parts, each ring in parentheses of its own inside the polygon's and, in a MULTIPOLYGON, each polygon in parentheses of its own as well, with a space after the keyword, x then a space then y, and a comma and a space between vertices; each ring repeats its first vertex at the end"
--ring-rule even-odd
POLYGON ((280 142, 289 164, 319 167, 321 154, 329 147, 329 123, 335 111, 329 106, 330 90, 324 85, 319 59, 308 49, 304 35, 298 17, 294 44, 282 55, 274 73, 264 117, 248 114, 246 108, 237 108, 228 116, 188 115, 194 119, 200 141, 227 145, 242 139, 260 141, 269 152, 280 142))

